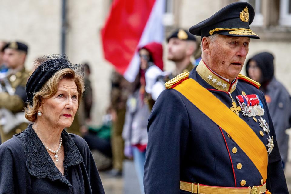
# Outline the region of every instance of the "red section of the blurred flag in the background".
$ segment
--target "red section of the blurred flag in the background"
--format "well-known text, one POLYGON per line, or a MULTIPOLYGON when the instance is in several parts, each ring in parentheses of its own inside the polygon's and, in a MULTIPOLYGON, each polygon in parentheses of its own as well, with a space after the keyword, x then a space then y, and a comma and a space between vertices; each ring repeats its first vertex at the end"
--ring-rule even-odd
POLYGON ((123 75, 138 49, 155 0, 115 0, 102 29, 105 59, 123 75))

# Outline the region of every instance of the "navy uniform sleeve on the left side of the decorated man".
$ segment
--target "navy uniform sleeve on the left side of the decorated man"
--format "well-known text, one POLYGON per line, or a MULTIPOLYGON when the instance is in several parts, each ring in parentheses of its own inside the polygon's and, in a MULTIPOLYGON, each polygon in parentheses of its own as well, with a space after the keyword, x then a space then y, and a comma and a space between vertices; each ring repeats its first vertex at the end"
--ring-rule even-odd
POLYGON ((180 164, 188 133, 188 112, 179 92, 165 90, 157 99, 148 122, 146 194, 180 193, 180 164))

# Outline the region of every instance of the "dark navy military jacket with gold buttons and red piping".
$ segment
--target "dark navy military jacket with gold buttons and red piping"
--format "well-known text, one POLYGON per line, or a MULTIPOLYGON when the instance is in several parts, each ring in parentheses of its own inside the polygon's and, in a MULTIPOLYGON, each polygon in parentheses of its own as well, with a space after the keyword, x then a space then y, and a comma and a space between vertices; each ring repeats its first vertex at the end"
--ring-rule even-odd
MULTIPOLYGON (((190 72, 189 78, 209 89, 226 106, 232 107, 229 94, 209 85, 196 69, 197 66, 190 72)), ((242 112, 239 117, 253 129, 264 145, 268 144, 269 135, 273 136, 274 148, 268 156, 267 189, 272 194, 286 194, 286 179, 264 95, 254 85, 238 80, 232 98, 242 95, 242 91, 246 95, 257 94, 261 99, 265 110, 262 118, 269 124, 269 134, 260 135, 263 129, 252 117, 245 117, 242 112)), ((204 100, 207 103, 208 99, 204 100)), ((223 129, 175 89, 166 89, 161 93, 148 122, 144 175, 146 194, 190 193, 179 189, 180 180, 209 186, 252 187, 261 185, 261 179, 253 162, 223 129), (236 153, 232 152, 233 148, 237 148, 236 153), (239 163, 242 164, 241 169, 237 168, 239 163), (244 186, 241 185, 243 180, 246 182, 244 186)))

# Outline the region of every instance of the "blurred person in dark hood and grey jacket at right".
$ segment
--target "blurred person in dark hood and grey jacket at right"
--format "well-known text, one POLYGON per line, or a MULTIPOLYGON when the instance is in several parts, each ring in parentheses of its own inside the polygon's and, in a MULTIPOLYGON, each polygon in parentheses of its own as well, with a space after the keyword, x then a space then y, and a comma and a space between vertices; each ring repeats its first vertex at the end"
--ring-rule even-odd
POLYGON ((246 63, 246 74, 261 84, 259 89, 265 94, 284 167, 288 158, 289 135, 285 131, 291 127, 291 97, 274 76, 274 56, 268 52, 254 55, 246 63))

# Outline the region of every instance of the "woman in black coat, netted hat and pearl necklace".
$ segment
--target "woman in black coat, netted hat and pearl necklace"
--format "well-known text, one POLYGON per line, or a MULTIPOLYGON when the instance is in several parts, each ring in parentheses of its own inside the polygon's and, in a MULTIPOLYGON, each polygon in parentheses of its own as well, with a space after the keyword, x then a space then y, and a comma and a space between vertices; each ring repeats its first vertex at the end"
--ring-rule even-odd
POLYGON ((26 85, 33 124, 0 145, 0 193, 104 193, 85 140, 64 130, 82 99, 82 66, 45 58, 26 85))

